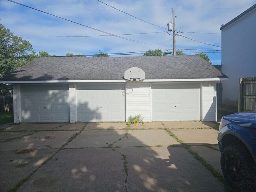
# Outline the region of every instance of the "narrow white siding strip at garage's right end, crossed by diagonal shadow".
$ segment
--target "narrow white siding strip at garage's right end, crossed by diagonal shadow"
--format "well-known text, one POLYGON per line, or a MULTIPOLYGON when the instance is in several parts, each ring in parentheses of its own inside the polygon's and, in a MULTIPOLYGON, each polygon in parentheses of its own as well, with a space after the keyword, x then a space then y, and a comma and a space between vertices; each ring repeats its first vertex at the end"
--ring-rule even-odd
POLYGON ((202 121, 216 121, 216 82, 202 83, 202 121))

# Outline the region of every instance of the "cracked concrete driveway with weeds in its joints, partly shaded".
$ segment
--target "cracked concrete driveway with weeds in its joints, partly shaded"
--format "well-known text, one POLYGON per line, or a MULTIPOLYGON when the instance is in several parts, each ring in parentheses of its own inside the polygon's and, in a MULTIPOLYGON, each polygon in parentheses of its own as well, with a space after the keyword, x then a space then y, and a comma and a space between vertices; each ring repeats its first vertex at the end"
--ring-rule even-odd
POLYGON ((0 191, 224 191, 218 131, 211 127, 216 125, 11 125, 0 131, 0 191))

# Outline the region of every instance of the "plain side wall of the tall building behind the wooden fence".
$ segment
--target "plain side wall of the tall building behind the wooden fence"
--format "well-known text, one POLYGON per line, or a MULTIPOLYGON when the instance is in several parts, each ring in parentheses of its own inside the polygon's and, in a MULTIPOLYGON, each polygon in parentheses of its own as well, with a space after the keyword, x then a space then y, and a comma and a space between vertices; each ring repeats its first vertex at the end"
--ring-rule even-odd
POLYGON ((221 31, 222 102, 238 106, 239 78, 256 76, 256 10, 221 31))

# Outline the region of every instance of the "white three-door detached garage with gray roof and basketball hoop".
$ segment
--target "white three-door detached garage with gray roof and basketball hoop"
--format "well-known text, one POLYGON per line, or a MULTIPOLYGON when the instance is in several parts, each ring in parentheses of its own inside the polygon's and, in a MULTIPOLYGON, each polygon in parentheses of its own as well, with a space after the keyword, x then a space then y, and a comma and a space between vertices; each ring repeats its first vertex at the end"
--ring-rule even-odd
POLYGON ((14 122, 215 121, 227 76, 199 56, 39 57, 13 84, 14 122))

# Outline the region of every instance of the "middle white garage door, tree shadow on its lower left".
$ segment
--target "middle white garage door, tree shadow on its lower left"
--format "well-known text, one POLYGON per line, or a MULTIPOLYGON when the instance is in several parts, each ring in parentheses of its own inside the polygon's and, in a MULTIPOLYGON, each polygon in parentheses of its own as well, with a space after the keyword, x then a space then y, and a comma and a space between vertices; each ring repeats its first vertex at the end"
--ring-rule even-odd
POLYGON ((124 121, 124 85, 77 85, 78 122, 124 121))

